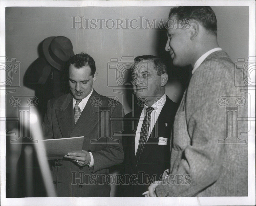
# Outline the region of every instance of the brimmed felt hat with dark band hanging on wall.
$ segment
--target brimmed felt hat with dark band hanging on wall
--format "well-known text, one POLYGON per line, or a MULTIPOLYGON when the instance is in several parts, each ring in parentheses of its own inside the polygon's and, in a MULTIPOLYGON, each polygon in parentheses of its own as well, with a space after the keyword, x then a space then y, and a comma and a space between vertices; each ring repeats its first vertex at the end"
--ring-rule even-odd
POLYGON ((50 36, 42 44, 45 58, 54 68, 63 71, 63 65, 74 56, 71 41, 65 36, 50 36))

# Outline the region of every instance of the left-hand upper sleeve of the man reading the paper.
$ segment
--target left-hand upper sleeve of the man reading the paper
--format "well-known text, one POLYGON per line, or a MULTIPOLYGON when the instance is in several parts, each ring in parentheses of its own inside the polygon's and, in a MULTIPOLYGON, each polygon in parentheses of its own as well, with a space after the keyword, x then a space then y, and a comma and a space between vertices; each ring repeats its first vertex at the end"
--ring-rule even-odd
POLYGON ((47 110, 44 118, 44 123, 42 124, 42 132, 45 139, 53 139, 52 132, 52 104, 51 100, 47 102, 47 110))

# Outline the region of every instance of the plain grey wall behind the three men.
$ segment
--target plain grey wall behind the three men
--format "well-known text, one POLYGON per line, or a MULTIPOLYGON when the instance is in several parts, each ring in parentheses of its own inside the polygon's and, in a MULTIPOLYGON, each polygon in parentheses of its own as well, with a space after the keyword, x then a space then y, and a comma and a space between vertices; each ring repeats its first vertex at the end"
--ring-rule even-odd
MULTIPOLYGON (((98 79, 93 84, 95 90, 105 96, 117 96, 124 105, 125 113, 131 107, 122 94, 113 92, 108 83, 116 81, 115 75, 108 76, 108 62, 121 56, 159 55, 164 51, 166 35, 159 36, 159 29, 77 29, 73 27, 71 16, 84 19, 163 19, 168 18, 171 7, 7 7, 6 8, 6 56, 21 62, 21 86, 16 92, 6 95, 7 117, 16 109, 8 102, 14 95, 33 96, 34 90, 23 86, 23 76, 29 65, 38 56, 38 45, 49 36, 66 36, 73 44, 75 54, 90 54, 96 63, 98 79), (159 44, 159 42, 163 42, 159 44), (109 82, 108 82, 109 81, 109 82)), ((218 42, 233 61, 248 57, 248 7, 212 7, 218 22, 218 42)), ((78 18, 76 18, 78 21, 78 18)), ((145 23, 145 22, 144 22, 145 23)), ((104 24, 103 24, 104 25, 104 24)), ((111 25, 111 24, 109 24, 111 25)), ((85 25, 83 25, 85 27, 85 25)), ((165 32, 165 31, 161 31, 165 32)), ((166 53, 165 53, 166 54, 166 53)), ((166 58, 169 56, 167 55, 166 58)), ((170 57, 169 57, 170 58, 170 57)), ((13 77, 14 81, 19 81, 13 77)), ((172 79, 169 76, 169 79, 172 79)), ((174 78, 175 79, 175 78, 174 78)), ((167 95, 178 101, 182 88, 170 80, 167 95)), ((122 90, 121 90, 122 92, 122 90)))

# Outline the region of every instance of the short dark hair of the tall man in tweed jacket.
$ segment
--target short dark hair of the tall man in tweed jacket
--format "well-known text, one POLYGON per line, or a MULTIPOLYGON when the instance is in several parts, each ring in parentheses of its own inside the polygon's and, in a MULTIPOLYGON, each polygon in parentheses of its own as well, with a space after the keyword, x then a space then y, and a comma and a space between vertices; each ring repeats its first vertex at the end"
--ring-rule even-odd
POLYGON ((170 9, 169 19, 194 19, 202 23, 203 27, 217 36, 217 19, 214 11, 209 6, 179 6, 170 9))

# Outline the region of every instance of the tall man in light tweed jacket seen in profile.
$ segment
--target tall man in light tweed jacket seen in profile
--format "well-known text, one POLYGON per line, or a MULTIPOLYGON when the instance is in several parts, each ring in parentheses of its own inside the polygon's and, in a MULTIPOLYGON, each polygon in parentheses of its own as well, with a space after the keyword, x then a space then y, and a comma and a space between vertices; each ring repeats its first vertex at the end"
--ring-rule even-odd
POLYGON ((149 195, 248 196, 248 97, 235 86, 244 85, 242 70, 219 48, 210 7, 172 8, 169 22, 165 49, 193 75, 175 116, 170 169, 149 195))

